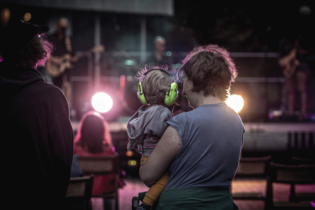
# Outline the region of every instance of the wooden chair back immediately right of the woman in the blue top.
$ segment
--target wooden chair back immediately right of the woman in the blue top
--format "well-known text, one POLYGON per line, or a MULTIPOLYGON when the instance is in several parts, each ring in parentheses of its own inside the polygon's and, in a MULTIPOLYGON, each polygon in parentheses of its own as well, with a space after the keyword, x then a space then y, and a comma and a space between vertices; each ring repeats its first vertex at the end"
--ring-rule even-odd
POLYGON ((271 156, 241 157, 235 177, 264 177, 270 160, 271 156))

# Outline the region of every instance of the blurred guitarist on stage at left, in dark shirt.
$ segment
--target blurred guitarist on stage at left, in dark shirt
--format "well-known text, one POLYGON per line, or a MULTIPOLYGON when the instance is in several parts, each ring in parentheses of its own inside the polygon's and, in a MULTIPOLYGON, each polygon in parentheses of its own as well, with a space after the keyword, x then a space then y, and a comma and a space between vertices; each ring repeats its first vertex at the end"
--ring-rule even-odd
POLYGON ((50 60, 51 65, 63 65, 63 72, 52 75, 53 83, 58 88, 65 89, 65 96, 68 100, 70 111, 72 110, 72 90, 70 78, 72 76, 72 63, 76 62, 74 44, 72 37, 66 34, 66 30, 69 26, 69 22, 65 17, 61 17, 56 24, 56 31, 49 36, 49 41, 55 46, 54 54, 50 60))

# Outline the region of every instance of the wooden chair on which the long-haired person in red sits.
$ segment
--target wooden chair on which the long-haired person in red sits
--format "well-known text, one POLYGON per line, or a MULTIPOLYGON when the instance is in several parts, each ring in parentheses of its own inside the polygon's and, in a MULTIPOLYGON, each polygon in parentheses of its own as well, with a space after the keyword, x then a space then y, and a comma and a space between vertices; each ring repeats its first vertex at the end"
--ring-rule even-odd
POLYGON ((115 188, 113 192, 92 195, 92 197, 115 199, 115 209, 118 210, 118 186, 120 169, 120 155, 102 157, 79 156, 79 163, 83 174, 106 175, 115 174, 115 188))

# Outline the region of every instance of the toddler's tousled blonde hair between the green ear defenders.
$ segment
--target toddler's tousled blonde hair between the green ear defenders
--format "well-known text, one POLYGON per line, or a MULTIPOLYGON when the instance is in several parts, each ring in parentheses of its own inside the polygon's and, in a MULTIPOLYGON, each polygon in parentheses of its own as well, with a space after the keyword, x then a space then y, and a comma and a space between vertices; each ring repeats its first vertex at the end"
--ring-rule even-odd
POLYGON ((148 104, 163 105, 166 92, 174 77, 167 70, 167 66, 150 67, 146 65, 141 71, 138 71, 136 79, 141 82, 142 90, 148 104))

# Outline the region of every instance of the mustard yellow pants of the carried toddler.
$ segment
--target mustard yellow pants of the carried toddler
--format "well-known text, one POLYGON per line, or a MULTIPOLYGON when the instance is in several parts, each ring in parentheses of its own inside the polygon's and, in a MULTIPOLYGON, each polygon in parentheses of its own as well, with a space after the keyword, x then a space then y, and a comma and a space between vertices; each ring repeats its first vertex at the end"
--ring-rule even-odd
MULTIPOLYGON (((141 163, 142 166, 143 163, 146 162, 146 159, 148 159, 149 156, 142 156, 141 157, 141 163)), ((156 183, 153 184, 150 189, 147 191, 146 196, 143 199, 143 202, 146 204, 153 206, 154 202, 157 201, 159 196, 161 195, 162 191, 164 190, 167 182, 169 181, 169 174, 167 172, 164 172, 163 175, 157 179, 156 183)))

